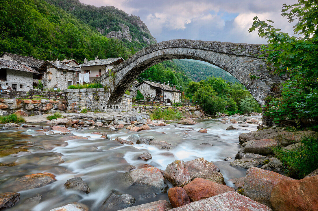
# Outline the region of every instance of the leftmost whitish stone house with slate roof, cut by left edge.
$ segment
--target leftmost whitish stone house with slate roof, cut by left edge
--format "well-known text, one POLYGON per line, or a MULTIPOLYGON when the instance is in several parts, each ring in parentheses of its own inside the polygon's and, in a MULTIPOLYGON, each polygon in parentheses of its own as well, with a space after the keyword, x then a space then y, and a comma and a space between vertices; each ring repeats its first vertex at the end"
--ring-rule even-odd
POLYGON ((0 59, 0 88, 13 89, 15 91, 29 91, 33 89, 34 76, 42 78, 42 74, 37 70, 22 65, 13 60, 0 59))

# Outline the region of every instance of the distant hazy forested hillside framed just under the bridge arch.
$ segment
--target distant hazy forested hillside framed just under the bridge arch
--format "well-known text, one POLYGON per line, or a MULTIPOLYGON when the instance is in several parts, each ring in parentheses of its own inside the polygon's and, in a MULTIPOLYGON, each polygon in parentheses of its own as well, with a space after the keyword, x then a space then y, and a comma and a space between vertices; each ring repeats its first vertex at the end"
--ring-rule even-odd
POLYGON ((191 80, 196 82, 205 80, 212 76, 221 77, 232 83, 239 82, 231 74, 221 68, 211 67, 196 61, 176 59, 173 60, 173 62, 178 65, 191 80))

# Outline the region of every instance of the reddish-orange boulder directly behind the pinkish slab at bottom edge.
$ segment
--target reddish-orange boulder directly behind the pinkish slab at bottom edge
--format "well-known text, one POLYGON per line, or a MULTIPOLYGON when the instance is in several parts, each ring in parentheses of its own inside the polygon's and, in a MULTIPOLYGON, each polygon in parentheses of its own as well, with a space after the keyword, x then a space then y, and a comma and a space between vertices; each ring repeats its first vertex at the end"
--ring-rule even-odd
POLYGON ((227 191, 233 191, 234 189, 210 180, 195 178, 184 186, 184 190, 187 192, 190 201, 198 201, 227 191))

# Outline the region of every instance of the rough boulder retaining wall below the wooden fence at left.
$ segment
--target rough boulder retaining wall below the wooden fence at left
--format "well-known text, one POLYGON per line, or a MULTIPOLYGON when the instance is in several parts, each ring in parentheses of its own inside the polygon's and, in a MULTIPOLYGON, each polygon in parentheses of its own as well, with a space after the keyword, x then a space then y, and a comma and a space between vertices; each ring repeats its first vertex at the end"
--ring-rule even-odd
POLYGON ((43 113, 67 112, 64 100, 0 99, 0 116, 16 113, 23 117, 43 113))

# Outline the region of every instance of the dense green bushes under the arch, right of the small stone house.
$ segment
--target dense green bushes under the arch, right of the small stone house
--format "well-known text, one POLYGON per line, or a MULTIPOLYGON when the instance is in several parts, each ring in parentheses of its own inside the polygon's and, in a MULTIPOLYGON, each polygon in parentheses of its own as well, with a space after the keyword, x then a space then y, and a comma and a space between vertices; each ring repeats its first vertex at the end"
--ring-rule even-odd
POLYGON ((242 84, 232 84, 221 78, 191 81, 186 92, 193 94, 192 99, 201 104, 207 114, 225 112, 232 115, 262 111, 258 102, 242 84))

